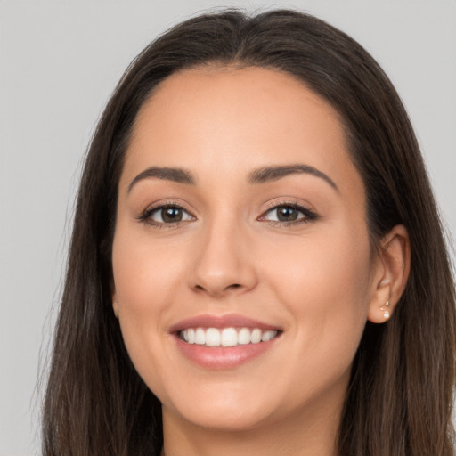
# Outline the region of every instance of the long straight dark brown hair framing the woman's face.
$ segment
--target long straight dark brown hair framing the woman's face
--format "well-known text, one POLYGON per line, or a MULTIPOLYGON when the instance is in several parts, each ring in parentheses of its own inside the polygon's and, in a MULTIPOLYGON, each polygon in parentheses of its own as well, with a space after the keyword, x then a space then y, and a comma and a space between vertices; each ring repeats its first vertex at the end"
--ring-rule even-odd
POLYGON ((278 69, 337 111, 367 194, 373 248, 395 224, 411 273, 395 314, 367 323, 338 435, 341 456, 450 456, 455 291, 411 123, 385 73, 352 38, 293 11, 187 20, 126 70, 94 133, 80 183, 43 417, 43 454, 158 455, 158 399, 134 371, 111 305, 118 178, 134 118, 155 87, 208 64, 278 69))

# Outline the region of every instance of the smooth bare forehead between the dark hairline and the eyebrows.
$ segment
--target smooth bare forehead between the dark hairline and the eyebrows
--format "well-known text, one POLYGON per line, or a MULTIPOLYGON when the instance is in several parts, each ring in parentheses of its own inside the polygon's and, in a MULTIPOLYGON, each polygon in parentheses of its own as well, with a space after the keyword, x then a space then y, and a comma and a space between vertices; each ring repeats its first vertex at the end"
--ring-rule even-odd
POLYGON ((213 67, 167 77, 144 102, 125 171, 179 166, 228 177, 290 163, 360 180, 338 113, 304 83, 273 69, 213 67))

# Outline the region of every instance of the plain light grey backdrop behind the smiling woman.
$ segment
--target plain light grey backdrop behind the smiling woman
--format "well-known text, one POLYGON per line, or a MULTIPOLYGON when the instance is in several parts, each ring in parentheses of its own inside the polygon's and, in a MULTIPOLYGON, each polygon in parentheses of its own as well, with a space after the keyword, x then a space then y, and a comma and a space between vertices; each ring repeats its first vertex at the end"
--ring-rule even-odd
POLYGON ((456 1, 0 0, 0 455, 37 455, 40 382, 87 142, 127 64, 214 6, 297 7, 359 40, 417 131, 456 232, 456 1))

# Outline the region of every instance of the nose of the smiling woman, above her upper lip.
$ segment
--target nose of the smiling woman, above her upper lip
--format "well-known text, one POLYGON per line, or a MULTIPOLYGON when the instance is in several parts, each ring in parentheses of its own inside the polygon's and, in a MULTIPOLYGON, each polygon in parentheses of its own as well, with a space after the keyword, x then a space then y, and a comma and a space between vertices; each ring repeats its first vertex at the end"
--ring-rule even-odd
POLYGON ((212 224, 195 244, 191 289, 211 297, 243 293, 257 283, 255 258, 248 235, 229 222, 212 224))

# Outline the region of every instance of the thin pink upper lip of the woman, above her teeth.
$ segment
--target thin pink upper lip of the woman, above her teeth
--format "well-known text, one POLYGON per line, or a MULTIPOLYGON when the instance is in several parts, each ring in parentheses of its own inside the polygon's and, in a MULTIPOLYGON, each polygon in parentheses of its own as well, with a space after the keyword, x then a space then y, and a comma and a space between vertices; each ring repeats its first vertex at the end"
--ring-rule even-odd
POLYGON ((258 328, 260 330, 280 330, 277 326, 260 322, 240 314, 196 315, 176 322, 169 332, 179 332, 188 328, 258 328))

